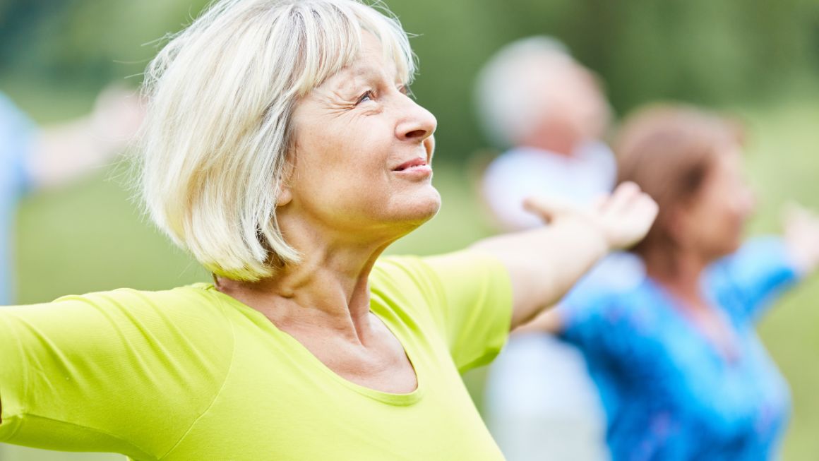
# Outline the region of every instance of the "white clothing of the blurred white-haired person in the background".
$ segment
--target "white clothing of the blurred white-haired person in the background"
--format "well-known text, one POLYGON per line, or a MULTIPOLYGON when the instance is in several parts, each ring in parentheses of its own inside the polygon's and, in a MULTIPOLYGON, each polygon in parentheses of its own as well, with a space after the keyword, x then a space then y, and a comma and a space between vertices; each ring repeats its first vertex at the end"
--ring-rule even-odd
MULTIPOLYGON (((572 156, 516 147, 487 167, 482 193, 505 228, 542 226, 523 200, 544 196, 588 206, 611 192, 617 178, 612 151, 602 142, 581 145, 572 156)), ((630 286, 642 264, 619 253, 581 280, 584 290, 630 286)), ((486 416, 509 461, 607 459, 605 414, 586 362, 576 347, 545 335, 513 336, 491 367, 486 416)))

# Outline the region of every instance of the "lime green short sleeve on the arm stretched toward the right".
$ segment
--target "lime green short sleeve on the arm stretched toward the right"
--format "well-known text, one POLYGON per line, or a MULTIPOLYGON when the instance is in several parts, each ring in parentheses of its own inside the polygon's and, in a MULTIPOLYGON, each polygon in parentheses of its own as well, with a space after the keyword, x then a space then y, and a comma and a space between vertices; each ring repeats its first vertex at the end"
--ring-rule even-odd
POLYGON ((385 262, 400 264, 410 274, 433 328, 445 338, 460 373, 495 359, 512 321, 512 286, 500 260, 477 251, 459 251, 385 262))

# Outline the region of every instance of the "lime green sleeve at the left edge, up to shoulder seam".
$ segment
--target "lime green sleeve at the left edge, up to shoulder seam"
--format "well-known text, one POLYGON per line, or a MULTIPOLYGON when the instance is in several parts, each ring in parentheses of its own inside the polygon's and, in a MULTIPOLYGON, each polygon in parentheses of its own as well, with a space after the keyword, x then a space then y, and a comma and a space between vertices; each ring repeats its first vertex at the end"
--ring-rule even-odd
POLYGON ((117 290, 0 308, 0 441, 161 458, 210 405, 232 354, 224 322, 179 301, 117 290))

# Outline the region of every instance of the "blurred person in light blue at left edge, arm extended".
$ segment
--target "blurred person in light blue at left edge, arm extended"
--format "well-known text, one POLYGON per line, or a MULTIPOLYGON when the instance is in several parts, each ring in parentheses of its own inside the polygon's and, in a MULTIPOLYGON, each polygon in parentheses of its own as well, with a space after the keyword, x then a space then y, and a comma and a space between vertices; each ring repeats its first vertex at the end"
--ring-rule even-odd
POLYGON ((37 129, 0 93, 0 305, 13 301, 11 233, 20 198, 61 186, 105 165, 129 141, 141 120, 138 97, 112 87, 100 93, 91 114, 37 129))

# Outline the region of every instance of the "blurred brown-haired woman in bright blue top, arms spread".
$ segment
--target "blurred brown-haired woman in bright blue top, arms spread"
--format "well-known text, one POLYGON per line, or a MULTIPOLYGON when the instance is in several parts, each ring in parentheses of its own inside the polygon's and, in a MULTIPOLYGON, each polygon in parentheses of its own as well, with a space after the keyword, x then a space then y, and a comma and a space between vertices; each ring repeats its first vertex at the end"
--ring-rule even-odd
POLYGON ((659 204, 633 250, 646 277, 574 292, 527 328, 582 350, 613 459, 776 458, 790 396, 754 325, 817 267, 819 221, 794 210, 785 237, 740 247, 753 194, 740 131, 716 115, 655 106, 627 121, 618 147, 620 180, 659 204))

